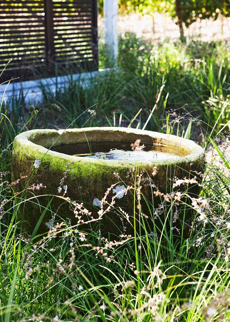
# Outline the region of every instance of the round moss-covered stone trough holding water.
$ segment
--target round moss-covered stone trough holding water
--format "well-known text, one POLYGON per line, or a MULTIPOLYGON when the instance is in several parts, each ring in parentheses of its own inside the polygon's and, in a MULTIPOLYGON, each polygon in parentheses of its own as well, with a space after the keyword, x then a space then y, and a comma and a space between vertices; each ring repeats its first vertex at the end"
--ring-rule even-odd
MULTIPOLYGON (((174 177, 179 179, 194 177, 195 173, 193 171, 200 172, 203 170, 203 149, 195 142, 173 135, 131 128, 97 127, 59 131, 52 129, 31 130, 15 137, 12 152, 13 181, 22 177, 14 187, 15 193, 17 193, 15 201, 16 203, 21 202, 21 196, 30 199, 21 204, 20 217, 18 218, 23 221, 23 229, 28 233, 33 232, 44 211, 44 207, 47 206, 52 195, 55 195, 55 197, 50 204, 50 209, 55 214, 55 220, 60 222, 62 218, 64 220, 69 218, 70 220, 67 220, 71 222, 71 225, 77 223, 77 219, 70 209, 70 204, 60 198, 64 194, 66 186, 68 188, 65 197, 68 196, 78 203, 83 202, 84 207, 92 213, 94 218, 97 218, 100 201, 107 189, 114 185, 107 197, 108 202, 110 202, 112 196, 119 190, 125 189, 128 185, 134 187, 135 180, 137 187, 138 177, 136 175, 142 173, 139 185, 142 186, 141 193, 145 198, 141 196, 140 204, 142 211, 147 216, 151 214, 154 216, 154 212, 161 202, 160 197, 153 194, 154 191, 170 193, 174 177), (141 144, 151 144, 159 150, 163 149, 164 152, 174 154, 174 157, 150 163, 149 161, 141 160, 103 160, 73 156, 51 150, 58 146, 65 147, 65 145, 71 143, 84 143, 86 147, 90 148, 100 142, 106 142, 106 144, 111 142, 112 149, 119 148, 122 142, 129 142, 130 146, 137 139, 141 140, 141 144), (154 166, 157 168, 157 174, 152 176, 154 166), (118 177, 114 173, 118 174, 118 177), (62 178, 64 179, 61 180, 62 178), (40 183, 46 188, 28 190, 26 194, 21 193, 25 191, 26 187, 40 183), (37 196, 37 198, 34 198, 34 196, 37 196), (149 205, 145 199, 149 201, 149 205)), ((186 190, 187 186, 183 187, 181 185, 180 188, 186 190)), ((198 192, 198 185, 189 186, 188 193, 196 196, 198 192)), ((114 199, 115 208, 105 213, 100 221, 92 222, 87 227, 92 228, 93 225, 100 225, 94 228, 100 228, 101 233, 106 236, 109 233, 113 235, 119 235, 121 232, 133 233, 133 194, 134 190, 131 189, 127 194, 121 193, 118 195, 114 199), (126 217, 124 218, 119 207, 129 214, 130 223, 126 217), (124 226, 126 227, 125 230, 124 226)), ((137 208, 135 209, 138 216, 139 211, 137 208)), ((49 230, 47 223, 51 218, 52 213, 47 211, 38 233, 44 233, 49 230)), ((148 223, 148 219, 146 221, 148 223)), ((151 221, 149 220, 149 222, 151 221)), ((156 220, 156 223, 161 226, 159 229, 162 228, 162 223, 160 222, 164 222, 164 218, 156 220)), ((79 227, 79 230, 81 230, 81 227, 79 227)))

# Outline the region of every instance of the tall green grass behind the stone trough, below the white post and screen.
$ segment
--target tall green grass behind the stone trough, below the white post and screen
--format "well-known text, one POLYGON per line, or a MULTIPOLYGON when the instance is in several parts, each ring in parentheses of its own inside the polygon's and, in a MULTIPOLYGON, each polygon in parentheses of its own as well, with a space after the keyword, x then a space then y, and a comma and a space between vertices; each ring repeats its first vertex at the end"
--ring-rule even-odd
MULTIPOLYGON (((128 126, 137 115, 131 126, 142 128, 155 105, 162 84, 165 86, 161 99, 151 114, 147 129, 161 130, 167 123, 165 112, 177 109, 181 114, 183 109, 178 109, 185 104, 188 111, 196 111, 193 113, 195 118, 202 119, 212 127, 219 117, 219 109, 223 109, 222 102, 225 102, 226 106, 218 121, 218 126, 223 127, 229 120, 227 89, 230 83, 230 57, 225 43, 213 42, 210 46, 194 40, 188 43, 166 41, 156 46, 135 34, 124 33, 119 40, 117 69, 112 68, 85 81, 81 75, 78 79, 73 78, 71 72, 73 74, 74 71, 70 70, 69 80, 61 88, 56 84, 55 91, 41 84, 43 99, 41 105, 37 104, 35 108, 41 108, 43 117, 36 127, 54 125, 56 128, 65 128, 76 115, 98 103, 96 118, 85 115, 73 126, 128 126)), ((106 56, 103 43, 100 43, 100 48, 100 66, 111 67, 111 64, 105 63, 109 57, 106 56)), ((15 111, 23 114, 19 108, 15 108, 15 111)), ((174 127, 173 131, 180 135, 185 132, 180 125, 174 127)))

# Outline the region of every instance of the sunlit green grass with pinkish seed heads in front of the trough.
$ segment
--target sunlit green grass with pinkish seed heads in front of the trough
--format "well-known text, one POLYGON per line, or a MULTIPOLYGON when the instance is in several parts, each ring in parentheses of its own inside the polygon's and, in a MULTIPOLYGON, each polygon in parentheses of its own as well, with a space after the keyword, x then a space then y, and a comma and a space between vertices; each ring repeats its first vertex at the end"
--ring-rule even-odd
MULTIPOLYGON (((207 147, 211 140, 207 134, 207 147)), ((227 162, 228 156, 218 152, 227 162)), ((140 235, 144 214, 139 209, 136 236, 118 237, 118 243, 105 240, 100 226, 80 239, 81 224, 76 227, 66 221, 60 225, 59 218, 41 241, 36 233, 29 239, 19 235, 21 223, 16 219, 13 194, 3 179, 1 321, 150 322, 160 317, 166 322, 198 322, 210 315, 228 321, 229 178, 215 165, 208 166, 205 175, 202 199, 198 199, 203 204, 197 207, 194 201, 191 206, 186 194, 179 204, 182 218, 191 218, 187 239, 175 230, 179 201, 171 198, 169 202, 162 199, 160 209, 149 203, 153 209, 149 221, 161 211, 162 227, 155 226, 153 231, 145 227, 140 235), (207 221, 198 220, 201 213, 207 221)), ((144 198, 141 194, 137 203, 144 198)), ((50 211, 49 206, 45 211, 50 211)))

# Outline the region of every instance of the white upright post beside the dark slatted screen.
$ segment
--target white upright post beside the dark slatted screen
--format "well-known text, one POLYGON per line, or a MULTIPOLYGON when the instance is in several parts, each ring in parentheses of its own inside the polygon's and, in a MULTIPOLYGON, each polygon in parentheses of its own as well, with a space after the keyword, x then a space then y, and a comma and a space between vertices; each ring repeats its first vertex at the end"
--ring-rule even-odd
POLYGON ((118 0, 104 0, 105 43, 112 60, 116 64, 118 57, 118 0))

